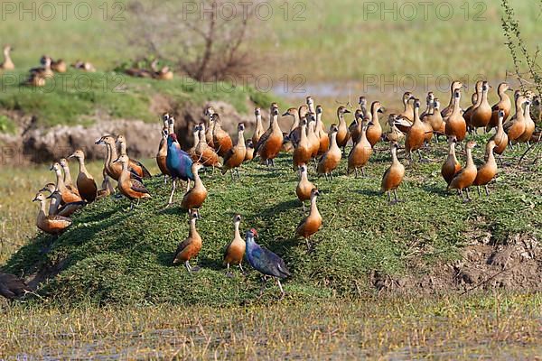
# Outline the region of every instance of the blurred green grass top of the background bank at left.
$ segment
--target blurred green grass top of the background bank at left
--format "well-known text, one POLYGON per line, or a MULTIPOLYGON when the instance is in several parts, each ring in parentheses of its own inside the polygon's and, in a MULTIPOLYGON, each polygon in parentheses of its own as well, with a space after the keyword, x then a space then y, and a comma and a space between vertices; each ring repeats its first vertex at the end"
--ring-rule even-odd
MULTIPOLYGON (((161 81, 117 72, 86 73, 70 69, 55 74, 43 88, 23 85, 28 78, 26 71, 5 72, 3 77, 0 106, 35 116, 42 126, 89 124, 90 117, 95 115, 155 121, 155 97, 167 102, 169 108, 222 100, 240 113, 248 112, 248 99, 260 106, 271 102, 266 94, 250 87, 220 82, 203 84, 182 76, 161 81)), ((8 130, 0 121, 0 132, 8 130)))

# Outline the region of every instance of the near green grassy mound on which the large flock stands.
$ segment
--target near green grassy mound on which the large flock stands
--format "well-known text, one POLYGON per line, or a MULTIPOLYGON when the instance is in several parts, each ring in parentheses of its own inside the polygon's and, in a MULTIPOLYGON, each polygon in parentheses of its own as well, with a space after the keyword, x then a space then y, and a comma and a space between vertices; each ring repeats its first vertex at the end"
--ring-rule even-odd
MULTIPOLYGON (((238 181, 220 172, 202 175, 210 194, 198 223, 203 247, 192 261, 201 266, 199 273, 172 265, 176 246, 188 233, 188 218, 178 207, 164 209, 170 184, 164 186, 161 178, 147 181, 153 199, 134 211, 126 211, 126 199, 100 200, 75 214, 73 225, 57 239, 37 236, 4 271, 52 275, 38 292, 62 303, 226 305, 255 301, 260 290, 259 275, 248 264, 246 277, 236 269, 233 278, 222 266, 235 213, 243 216, 243 229, 257 228, 258 242, 285 258, 293 273, 285 292, 294 300, 371 292, 368 274, 373 270, 424 273, 456 259, 480 229, 491 232, 495 243, 519 233, 540 239, 539 165, 506 167, 491 184, 490 198, 473 191, 473 201, 463 203, 444 190, 444 143, 432 148, 427 155, 435 162, 406 168, 398 190, 403 201, 395 206, 379 193, 388 151, 373 154, 365 178, 344 175, 345 161, 332 182, 315 179, 312 171, 310 178, 322 191, 318 204, 324 221, 310 253, 303 240, 294 238, 303 214, 294 195, 297 177, 290 171, 290 157, 283 155, 275 170, 255 162, 244 166, 238 181), (414 262, 417 266, 409 267, 414 262)), ((476 150, 476 159, 483 158, 481 152, 476 150)), ((181 197, 176 194, 178 203, 181 197)), ((269 282, 264 300, 277 292, 269 282)))

